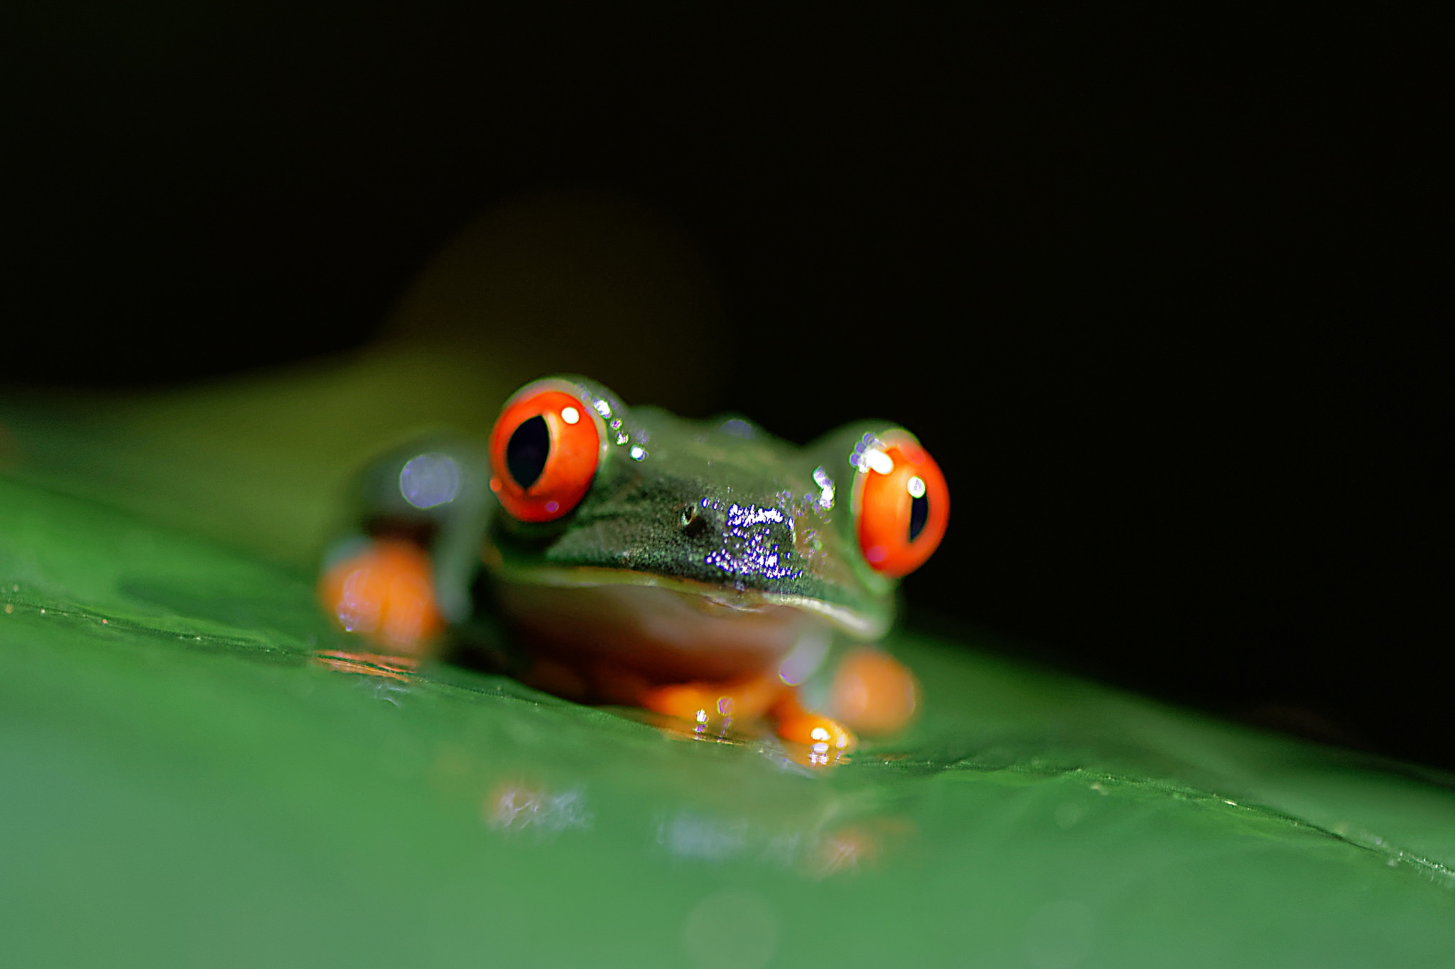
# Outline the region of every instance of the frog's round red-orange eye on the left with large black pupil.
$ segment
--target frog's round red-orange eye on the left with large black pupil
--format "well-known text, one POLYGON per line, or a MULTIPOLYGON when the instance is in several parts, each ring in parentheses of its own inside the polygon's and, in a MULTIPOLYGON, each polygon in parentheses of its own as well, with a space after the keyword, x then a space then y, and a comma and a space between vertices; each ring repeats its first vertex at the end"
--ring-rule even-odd
POLYGON ((490 430, 490 490, 521 522, 553 522, 591 488, 601 455, 597 415, 559 381, 537 381, 505 402, 490 430))

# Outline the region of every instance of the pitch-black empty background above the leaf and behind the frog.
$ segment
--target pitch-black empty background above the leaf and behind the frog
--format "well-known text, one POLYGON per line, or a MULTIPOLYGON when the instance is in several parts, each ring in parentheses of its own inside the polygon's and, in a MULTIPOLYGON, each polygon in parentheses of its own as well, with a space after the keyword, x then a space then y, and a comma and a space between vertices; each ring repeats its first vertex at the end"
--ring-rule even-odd
POLYGON ((482 209, 617 192, 716 276, 717 405, 936 453, 922 619, 1455 766, 1433 25, 7 16, 0 379, 359 346, 482 209))

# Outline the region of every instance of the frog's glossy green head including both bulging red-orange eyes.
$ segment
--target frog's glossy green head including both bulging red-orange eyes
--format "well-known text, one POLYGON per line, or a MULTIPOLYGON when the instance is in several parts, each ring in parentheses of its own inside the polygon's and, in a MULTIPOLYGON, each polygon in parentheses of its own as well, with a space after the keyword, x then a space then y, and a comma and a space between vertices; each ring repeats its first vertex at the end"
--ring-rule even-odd
MULTIPOLYGON (((799 449, 739 418, 627 408, 576 376, 535 381, 506 401, 490 465, 502 514, 486 565, 517 597, 534 590, 537 613, 563 609, 543 590, 597 590, 591 635, 620 612, 601 604, 610 588, 617 600, 650 597, 629 610, 653 613, 629 620, 639 639, 684 601, 688 613, 748 625, 765 613, 815 616, 873 639, 893 617, 898 580, 934 552, 949 519, 940 469, 886 421, 799 449), (630 591, 646 588, 659 591, 630 591)), ((706 633, 685 623, 672 635, 706 633)))

